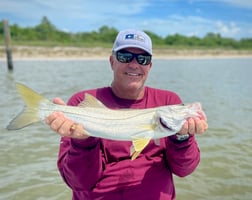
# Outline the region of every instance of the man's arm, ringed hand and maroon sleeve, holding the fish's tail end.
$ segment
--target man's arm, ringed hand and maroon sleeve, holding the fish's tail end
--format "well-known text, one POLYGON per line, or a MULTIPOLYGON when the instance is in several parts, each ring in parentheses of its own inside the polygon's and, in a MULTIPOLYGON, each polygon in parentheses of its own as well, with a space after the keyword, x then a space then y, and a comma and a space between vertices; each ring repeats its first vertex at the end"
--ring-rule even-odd
MULTIPOLYGON (((65 105, 59 98, 54 103, 65 105)), ((60 112, 49 115, 46 123, 61 136, 58 169, 64 181, 73 190, 91 190, 102 173, 100 139, 89 137, 60 112)))

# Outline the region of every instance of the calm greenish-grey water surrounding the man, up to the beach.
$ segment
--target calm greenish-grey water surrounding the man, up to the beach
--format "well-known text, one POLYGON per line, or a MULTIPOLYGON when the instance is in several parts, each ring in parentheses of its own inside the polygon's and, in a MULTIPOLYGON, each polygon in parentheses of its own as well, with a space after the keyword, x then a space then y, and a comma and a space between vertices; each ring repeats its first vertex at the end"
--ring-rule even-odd
MULTIPOLYGON (((178 200, 249 200, 252 196, 252 59, 154 60, 147 84, 200 101, 209 130, 197 136, 201 163, 175 177, 178 200)), ((110 85, 108 61, 0 61, 0 199, 71 199, 56 167, 59 137, 44 124, 5 126, 23 107, 15 82, 49 99, 110 85)), ((157 183, 158 184, 158 183, 157 183)))

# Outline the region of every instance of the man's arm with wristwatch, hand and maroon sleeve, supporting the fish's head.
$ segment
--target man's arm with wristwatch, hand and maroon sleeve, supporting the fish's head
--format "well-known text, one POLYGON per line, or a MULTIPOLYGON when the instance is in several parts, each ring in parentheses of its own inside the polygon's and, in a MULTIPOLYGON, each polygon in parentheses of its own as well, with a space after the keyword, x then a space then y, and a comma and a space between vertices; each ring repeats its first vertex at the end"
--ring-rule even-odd
POLYGON ((184 177, 191 174, 199 164, 200 150, 195 140, 195 134, 202 134, 208 129, 204 112, 197 118, 189 118, 179 134, 189 138, 179 141, 176 135, 166 138, 166 159, 171 171, 177 176, 184 177))

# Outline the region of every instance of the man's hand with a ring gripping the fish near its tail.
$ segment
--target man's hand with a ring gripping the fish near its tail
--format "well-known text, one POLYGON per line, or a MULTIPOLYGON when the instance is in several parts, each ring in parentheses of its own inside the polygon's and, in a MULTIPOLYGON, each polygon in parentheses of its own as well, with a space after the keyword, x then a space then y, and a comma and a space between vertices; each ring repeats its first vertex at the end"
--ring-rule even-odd
MULTIPOLYGON (((55 104, 66 105, 60 98, 53 100, 55 104)), ((82 125, 75 123, 73 120, 68 119, 62 112, 54 112, 46 118, 46 123, 51 129, 57 132, 62 137, 71 137, 78 139, 88 138, 82 125)))

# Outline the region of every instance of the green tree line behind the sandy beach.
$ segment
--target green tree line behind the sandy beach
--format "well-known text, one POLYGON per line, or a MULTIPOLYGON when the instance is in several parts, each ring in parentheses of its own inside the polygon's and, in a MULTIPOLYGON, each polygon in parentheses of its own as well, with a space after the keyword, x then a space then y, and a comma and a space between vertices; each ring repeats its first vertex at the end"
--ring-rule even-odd
MULTIPOLYGON (((183 36, 181 34, 160 37, 145 30, 151 37, 153 46, 160 48, 227 48, 252 49, 252 38, 235 40, 224 38, 220 34, 208 33, 203 38, 183 36)), ((113 27, 102 26, 98 31, 70 33, 61 31, 54 26, 47 17, 34 27, 20 27, 10 25, 12 43, 17 45, 42 46, 80 46, 80 47, 111 47, 118 30, 113 27)), ((4 41, 3 21, 0 22, 0 44, 4 41)))

